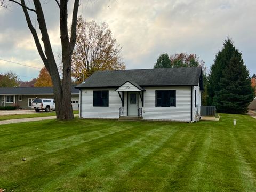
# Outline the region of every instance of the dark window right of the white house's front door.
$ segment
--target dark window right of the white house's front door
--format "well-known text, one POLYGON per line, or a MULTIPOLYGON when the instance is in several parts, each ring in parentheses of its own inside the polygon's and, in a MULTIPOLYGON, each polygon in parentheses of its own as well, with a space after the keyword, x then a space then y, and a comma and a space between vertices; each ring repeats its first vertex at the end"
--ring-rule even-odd
POLYGON ((156 90, 156 107, 176 107, 176 90, 156 90))

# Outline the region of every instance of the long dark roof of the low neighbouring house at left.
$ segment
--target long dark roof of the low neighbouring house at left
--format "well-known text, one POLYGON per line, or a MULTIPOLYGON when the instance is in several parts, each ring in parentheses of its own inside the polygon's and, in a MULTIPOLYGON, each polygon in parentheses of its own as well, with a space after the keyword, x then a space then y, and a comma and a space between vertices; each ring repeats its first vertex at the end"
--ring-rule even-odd
MULTIPOLYGON (((72 94, 79 94, 79 90, 72 87, 72 94)), ((0 88, 0 95, 5 94, 53 94, 52 87, 4 87, 0 88)))

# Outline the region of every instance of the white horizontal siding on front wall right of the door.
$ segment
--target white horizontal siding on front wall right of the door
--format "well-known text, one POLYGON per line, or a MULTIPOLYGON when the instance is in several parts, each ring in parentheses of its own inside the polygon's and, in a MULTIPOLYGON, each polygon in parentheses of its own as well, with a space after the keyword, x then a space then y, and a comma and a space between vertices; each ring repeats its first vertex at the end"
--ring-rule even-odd
POLYGON ((190 122, 190 87, 150 87, 144 92, 144 119, 190 122), (176 90, 176 107, 156 107, 156 90, 176 90))

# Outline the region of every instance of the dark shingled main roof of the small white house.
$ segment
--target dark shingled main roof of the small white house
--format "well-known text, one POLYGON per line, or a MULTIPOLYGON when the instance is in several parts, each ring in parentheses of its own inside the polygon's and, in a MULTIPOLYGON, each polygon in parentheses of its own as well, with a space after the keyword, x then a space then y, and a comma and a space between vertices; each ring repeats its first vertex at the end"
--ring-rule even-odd
POLYGON ((76 88, 119 87, 126 81, 139 86, 198 85, 201 67, 97 71, 76 88))

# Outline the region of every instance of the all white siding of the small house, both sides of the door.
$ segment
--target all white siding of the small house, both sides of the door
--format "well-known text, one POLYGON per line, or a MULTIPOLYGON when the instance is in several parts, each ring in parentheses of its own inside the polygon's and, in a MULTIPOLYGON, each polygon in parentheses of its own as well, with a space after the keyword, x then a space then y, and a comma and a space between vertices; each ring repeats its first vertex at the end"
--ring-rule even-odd
MULTIPOLYGON (((144 107, 142 107, 141 99, 138 95, 139 107, 142 107, 142 116, 144 119, 190 122, 190 86, 146 87, 145 89, 146 91, 144 92, 144 107), (176 90, 176 107, 156 107, 156 90, 176 90)), ((82 118, 119 118, 119 107, 122 107, 122 102, 119 98, 118 92, 116 92, 115 89, 82 89, 81 99, 82 118), (109 90, 109 107, 93 107, 93 90, 109 90)), ((127 92, 124 92, 124 116, 126 115, 127 92)))

